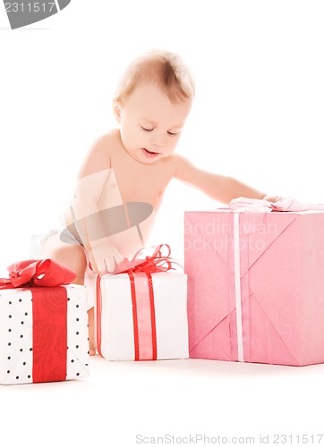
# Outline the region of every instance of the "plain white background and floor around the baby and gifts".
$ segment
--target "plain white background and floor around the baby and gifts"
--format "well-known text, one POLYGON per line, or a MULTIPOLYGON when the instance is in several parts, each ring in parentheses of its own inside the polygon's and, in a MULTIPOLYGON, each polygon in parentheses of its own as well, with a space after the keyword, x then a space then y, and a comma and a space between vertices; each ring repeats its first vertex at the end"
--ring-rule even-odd
MULTIPOLYGON (((115 125, 116 80, 152 47, 182 55, 196 79, 179 153, 269 194, 324 202, 321 1, 72 0, 21 30, 0 9, 2 275, 29 256, 31 234, 55 226, 82 157, 115 125)), ((172 182, 152 243, 169 243, 181 259, 183 211, 218 206, 172 182)), ((35 445, 45 434, 55 445, 58 423, 73 444, 114 446, 135 445, 137 433, 323 431, 314 409, 323 405, 321 366, 188 362, 95 358, 88 381, 1 387, 2 426, 21 443, 35 430, 35 445)))

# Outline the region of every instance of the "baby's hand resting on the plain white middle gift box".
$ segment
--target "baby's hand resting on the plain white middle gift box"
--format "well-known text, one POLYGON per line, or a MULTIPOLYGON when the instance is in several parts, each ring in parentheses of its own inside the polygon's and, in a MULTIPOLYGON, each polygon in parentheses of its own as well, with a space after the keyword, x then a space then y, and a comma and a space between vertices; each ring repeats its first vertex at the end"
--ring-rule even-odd
POLYGON ((109 242, 91 242, 89 251, 92 270, 97 274, 113 273, 115 266, 123 261, 123 257, 109 242))

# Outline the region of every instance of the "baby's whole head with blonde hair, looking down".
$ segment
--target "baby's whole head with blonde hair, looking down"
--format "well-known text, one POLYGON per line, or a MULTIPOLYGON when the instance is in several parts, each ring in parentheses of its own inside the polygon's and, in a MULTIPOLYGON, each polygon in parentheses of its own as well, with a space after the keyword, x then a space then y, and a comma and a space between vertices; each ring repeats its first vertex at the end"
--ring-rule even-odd
POLYGON ((194 97, 178 55, 154 50, 133 61, 115 92, 114 114, 130 156, 151 164, 175 150, 194 97))

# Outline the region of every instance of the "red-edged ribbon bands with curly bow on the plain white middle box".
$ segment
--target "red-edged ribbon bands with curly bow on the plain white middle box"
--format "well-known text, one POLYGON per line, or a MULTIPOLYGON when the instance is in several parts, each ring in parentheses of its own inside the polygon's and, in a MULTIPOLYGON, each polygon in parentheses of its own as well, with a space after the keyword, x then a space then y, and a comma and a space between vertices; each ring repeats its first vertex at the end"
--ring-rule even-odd
MULTIPOLYGON (((145 249, 139 250, 131 261, 127 258, 116 266, 114 274, 128 274, 131 282, 132 292, 132 319, 133 319, 133 333, 134 333, 134 360, 156 360, 158 358, 158 346, 157 346, 157 328, 155 318, 155 306, 154 306, 154 290, 151 274, 158 272, 166 272, 167 270, 174 270, 173 265, 177 264, 174 259, 170 257, 171 249, 166 244, 160 244, 154 248, 154 252, 151 256, 144 255, 145 249), (166 249, 166 254, 163 254, 163 249, 166 249), (141 325, 139 325, 138 318, 138 299, 136 291, 136 276, 146 275, 148 279, 148 291, 149 291, 149 314, 150 314, 150 336, 151 336, 151 354, 144 353, 145 348, 142 347, 143 354, 141 354, 141 325)), ((102 274, 97 276, 97 345, 98 352, 101 354, 101 289, 100 280, 102 274)))

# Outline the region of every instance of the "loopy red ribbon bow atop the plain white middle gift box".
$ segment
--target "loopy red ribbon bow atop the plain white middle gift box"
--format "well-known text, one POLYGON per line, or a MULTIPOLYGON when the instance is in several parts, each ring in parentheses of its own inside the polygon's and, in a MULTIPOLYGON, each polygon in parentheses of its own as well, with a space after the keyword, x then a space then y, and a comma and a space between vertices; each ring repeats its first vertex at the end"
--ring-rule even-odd
POLYGON ((133 273, 144 272, 147 274, 155 274, 157 272, 166 272, 167 270, 175 270, 174 264, 178 264, 172 257, 170 257, 171 249, 166 244, 160 244, 155 247, 155 250, 151 256, 141 257, 144 249, 141 249, 135 253, 132 259, 129 261, 124 258, 123 262, 115 267, 114 274, 124 274, 129 271, 133 273), (163 254, 163 249, 166 248, 166 254, 163 254))

